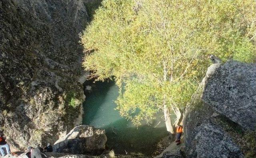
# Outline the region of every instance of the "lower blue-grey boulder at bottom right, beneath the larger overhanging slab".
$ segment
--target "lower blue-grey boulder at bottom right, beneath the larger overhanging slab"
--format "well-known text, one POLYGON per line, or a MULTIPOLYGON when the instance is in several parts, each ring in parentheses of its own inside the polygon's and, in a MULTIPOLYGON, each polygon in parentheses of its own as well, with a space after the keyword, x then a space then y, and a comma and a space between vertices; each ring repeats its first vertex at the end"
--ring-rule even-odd
POLYGON ((242 158, 239 146, 224 130, 212 122, 204 122, 194 130, 196 133, 188 157, 242 158))

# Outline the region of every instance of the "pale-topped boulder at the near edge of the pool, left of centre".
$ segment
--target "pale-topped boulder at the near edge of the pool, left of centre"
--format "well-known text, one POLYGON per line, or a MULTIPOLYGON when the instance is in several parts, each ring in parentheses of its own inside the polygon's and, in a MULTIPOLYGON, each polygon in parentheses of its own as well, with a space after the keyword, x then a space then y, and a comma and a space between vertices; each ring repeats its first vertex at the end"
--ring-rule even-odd
POLYGON ((105 149, 106 141, 105 130, 80 125, 57 140, 53 151, 69 154, 99 154, 105 149))

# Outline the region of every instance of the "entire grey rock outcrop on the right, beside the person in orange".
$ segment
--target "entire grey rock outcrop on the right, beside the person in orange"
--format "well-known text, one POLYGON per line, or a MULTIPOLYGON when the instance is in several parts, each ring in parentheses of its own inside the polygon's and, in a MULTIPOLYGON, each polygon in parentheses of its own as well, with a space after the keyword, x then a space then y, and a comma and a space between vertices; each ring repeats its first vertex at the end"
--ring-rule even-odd
POLYGON ((255 130, 255 77, 256 64, 228 61, 208 68, 184 115, 188 158, 244 157, 244 128, 255 130))

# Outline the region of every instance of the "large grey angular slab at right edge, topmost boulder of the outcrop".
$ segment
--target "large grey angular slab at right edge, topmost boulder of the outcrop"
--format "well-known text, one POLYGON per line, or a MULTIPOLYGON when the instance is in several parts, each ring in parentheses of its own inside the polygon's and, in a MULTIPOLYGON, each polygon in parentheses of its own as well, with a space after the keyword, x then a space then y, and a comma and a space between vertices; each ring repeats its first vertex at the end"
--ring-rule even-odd
POLYGON ((256 129, 256 64, 228 61, 207 80, 202 97, 218 113, 256 129))

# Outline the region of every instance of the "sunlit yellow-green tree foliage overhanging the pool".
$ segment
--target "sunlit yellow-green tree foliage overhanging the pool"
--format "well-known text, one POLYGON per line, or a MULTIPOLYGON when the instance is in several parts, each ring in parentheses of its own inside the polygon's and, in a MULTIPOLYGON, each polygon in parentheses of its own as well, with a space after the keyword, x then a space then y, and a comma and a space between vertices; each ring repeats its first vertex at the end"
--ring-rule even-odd
POLYGON ((165 103, 186 106, 206 54, 255 61, 254 0, 103 0, 95 13, 83 65, 98 80, 115 77, 117 109, 137 125, 165 103))

